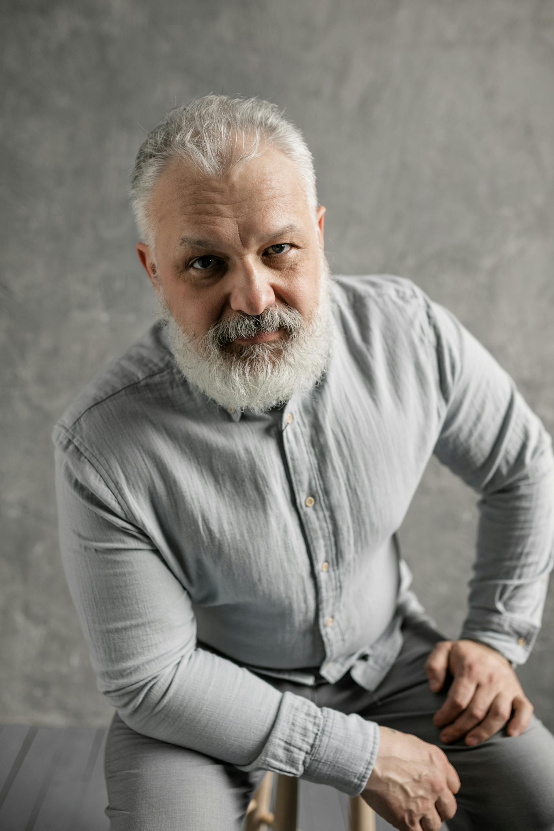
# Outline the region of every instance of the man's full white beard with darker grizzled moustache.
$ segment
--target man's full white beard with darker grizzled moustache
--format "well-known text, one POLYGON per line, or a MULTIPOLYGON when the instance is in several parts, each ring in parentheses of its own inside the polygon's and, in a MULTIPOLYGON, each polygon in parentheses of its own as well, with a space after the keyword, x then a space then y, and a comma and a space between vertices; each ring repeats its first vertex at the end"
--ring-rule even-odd
POLYGON ((227 410, 255 414, 317 386, 336 346, 332 277, 322 251, 319 270, 319 297, 308 322, 292 307, 273 306, 259 316, 241 313, 218 321, 203 337, 183 332, 160 292, 156 316, 166 322, 170 349, 187 381, 227 410), (281 327, 277 341, 233 344, 236 337, 281 327))

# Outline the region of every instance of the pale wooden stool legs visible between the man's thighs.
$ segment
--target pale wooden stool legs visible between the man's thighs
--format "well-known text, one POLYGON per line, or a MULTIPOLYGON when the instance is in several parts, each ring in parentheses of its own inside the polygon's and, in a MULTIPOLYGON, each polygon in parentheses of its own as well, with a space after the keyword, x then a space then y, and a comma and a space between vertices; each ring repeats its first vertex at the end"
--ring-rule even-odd
MULTIPOLYGON (((299 831, 298 779, 296 776, 277 775, 275 813, 270 811, 273 774, 267 771, 248 805, 245 831, 299 831)), ((351 831, 375 831, 375 813, 365 800, 354 796, 349 803, 351 831)))

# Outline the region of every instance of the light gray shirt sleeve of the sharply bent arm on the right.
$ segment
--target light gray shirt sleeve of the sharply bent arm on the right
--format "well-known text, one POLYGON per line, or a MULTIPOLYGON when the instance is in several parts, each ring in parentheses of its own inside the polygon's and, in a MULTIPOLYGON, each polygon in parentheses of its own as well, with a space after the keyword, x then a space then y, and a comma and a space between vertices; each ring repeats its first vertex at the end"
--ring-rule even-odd
POLYGON ((527 661, 554 564, 552 437, 511 376, 452 312, 426 298, 439 381, 434 455, 480 494, 460 638, 527 661))

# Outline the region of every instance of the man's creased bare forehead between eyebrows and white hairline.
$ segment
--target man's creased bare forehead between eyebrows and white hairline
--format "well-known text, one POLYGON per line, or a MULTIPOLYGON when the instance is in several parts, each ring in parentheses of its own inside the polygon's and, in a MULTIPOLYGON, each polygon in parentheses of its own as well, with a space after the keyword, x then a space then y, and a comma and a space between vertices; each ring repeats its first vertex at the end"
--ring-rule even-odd
POLYGON ((263 225, 306 225, 309 219, 297 167, 274 148, 223 179, 201 176, 181 160, 172 162, 154 186, 150 212, 164 236, 205 236, 211 230, 242 238, 263 225))

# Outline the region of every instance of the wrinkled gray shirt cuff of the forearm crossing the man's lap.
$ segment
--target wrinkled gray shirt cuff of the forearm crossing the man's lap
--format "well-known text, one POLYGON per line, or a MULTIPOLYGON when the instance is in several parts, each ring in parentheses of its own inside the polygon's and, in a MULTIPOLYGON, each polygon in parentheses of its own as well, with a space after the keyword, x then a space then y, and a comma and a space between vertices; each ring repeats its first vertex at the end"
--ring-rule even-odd
POLYGON ((375 721, 318 707, 287 691, 262 752, 249 765, 235 767, 272 770, 358 796, 375 765, 379 740, 375 721))

